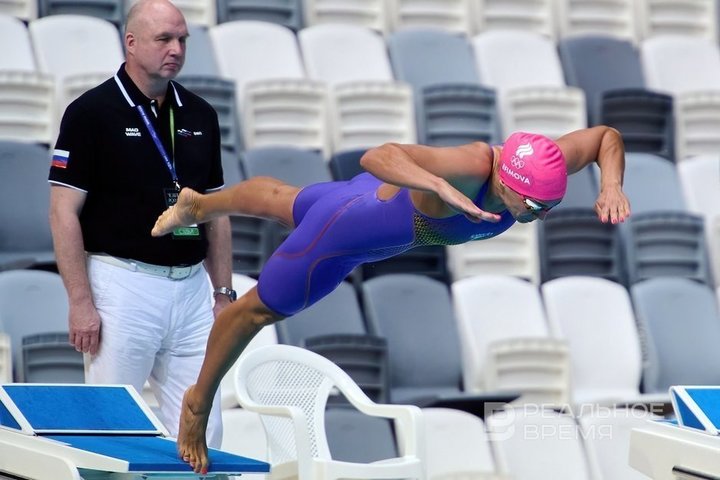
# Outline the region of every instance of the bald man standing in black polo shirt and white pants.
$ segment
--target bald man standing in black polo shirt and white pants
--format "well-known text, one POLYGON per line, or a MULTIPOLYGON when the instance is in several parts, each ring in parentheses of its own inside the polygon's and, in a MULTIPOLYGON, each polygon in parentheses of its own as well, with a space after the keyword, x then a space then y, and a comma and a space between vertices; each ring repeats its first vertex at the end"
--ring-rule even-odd
MULTIPOLYGON (((185 60, 182 13, 168 0, 140 0, 126 25, 125 63, 63 116, 50 223, 69 340, 90 359, 86 381, 141 391, 149 380, 176 435, 214 314, 234 300, 230 223, 217 218, 163 238, 150 229, 181 187, 223 187, 220 133, 212 107, 172 81, 185 60)), ((216 396, 207 440, 219 446, 221 437, 216 396)))

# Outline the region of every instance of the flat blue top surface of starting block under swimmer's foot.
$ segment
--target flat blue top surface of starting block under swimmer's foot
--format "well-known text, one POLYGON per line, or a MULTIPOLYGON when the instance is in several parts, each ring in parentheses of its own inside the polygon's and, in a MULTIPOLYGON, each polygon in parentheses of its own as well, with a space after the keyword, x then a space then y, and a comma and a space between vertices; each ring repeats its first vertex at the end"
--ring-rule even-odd
MULTIPOLYGON (((190 472, 190 466, 178 457, 177 445, 172 440, 160 437, 135 435, 48 435, 72 447, 89 452, 125 460, 131 472, 190 472)), ((208 473, 266 473, 270 466, 250 458, 209 450, 210 470, 208 473)))

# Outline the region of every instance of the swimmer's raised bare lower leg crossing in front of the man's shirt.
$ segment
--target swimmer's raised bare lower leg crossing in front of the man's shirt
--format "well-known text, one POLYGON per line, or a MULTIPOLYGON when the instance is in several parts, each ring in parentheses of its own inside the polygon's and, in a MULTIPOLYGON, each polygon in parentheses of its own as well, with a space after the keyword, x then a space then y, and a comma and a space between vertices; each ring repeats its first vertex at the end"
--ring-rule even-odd
POLYGON ((293 226, 292 206, 299 191, 272 177, 253 177, 207 195, 183 188, 177 203, 158 217, 151 234, 159 237, 180 226, 226 215, 261 217, 293 226))

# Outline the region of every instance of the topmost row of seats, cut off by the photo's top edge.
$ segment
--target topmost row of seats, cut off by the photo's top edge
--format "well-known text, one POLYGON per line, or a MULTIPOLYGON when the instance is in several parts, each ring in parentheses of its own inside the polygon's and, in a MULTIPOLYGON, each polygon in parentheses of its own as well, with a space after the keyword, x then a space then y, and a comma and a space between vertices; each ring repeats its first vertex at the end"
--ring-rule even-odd
MULTIPOLYGON (((0 13, 22 20, 58 14, 95 16, 119 25, 134 0, 17 0, 0 13)), ((176 0, 189 23, 213 26, 260 20, 300 30, 347 23, 382 33, 439 27, 473 35, 516 28, 550 37, 611 34, 634 41, 680 33, 717 36, 715 0, 176 0)))

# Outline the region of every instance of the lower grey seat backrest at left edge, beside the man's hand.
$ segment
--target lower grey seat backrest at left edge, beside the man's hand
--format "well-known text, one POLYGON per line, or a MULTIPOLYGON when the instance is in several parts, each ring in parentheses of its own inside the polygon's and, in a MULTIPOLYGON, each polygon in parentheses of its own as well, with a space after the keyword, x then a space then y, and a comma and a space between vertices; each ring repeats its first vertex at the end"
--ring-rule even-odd
POLYGON ((0 272, 0 321, 11 339, 15 377, 22 381, 23 339, 68 332, 68 299, 60 275, 42 270, 0 272))

